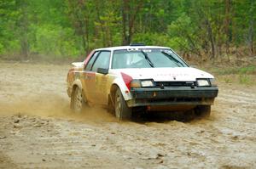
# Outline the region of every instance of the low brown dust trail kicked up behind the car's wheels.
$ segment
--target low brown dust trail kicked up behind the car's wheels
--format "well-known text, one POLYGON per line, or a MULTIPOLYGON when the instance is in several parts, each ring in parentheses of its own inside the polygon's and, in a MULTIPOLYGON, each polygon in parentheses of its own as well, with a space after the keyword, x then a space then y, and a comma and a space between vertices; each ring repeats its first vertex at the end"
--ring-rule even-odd
POLYGON ((12 103, 0 103, 0 115, 37 115, 74 121, 116 121, 101 107, 86 107, 82 113, 70 109, 69 100, 56 95, 41 95, 12 103))

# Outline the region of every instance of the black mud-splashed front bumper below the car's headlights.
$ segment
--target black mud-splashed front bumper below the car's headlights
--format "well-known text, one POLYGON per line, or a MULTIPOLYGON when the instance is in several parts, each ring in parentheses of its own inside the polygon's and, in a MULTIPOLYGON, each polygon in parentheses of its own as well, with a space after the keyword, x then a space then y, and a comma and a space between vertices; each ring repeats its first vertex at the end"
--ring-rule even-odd
POLYGON ((218 87, 148 87, 132 88, 129 107, 151 105, 211 105, 218 87))

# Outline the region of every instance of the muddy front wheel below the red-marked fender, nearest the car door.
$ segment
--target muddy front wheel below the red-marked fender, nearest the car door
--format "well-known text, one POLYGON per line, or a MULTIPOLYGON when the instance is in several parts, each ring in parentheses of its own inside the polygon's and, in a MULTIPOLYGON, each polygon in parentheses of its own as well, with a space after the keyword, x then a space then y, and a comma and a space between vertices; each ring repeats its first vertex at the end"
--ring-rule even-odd
POLYGON ((131 108, 129 108, 125 102, 123 94, 118 88, 114 98, 114 112, 119 121, 131 119, 131 108))

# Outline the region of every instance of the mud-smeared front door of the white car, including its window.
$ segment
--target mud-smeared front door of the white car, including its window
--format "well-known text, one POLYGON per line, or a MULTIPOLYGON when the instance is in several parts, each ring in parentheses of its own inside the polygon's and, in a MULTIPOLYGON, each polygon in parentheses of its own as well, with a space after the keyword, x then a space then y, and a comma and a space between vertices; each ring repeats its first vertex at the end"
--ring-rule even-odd
POLYGON ((110 51, 101 51, 92 65, 91 71, 96 73, 94 89, 91 91, 96 104, 108 104, 108 75, 97 73, 98 68, 109 69, 110 51))

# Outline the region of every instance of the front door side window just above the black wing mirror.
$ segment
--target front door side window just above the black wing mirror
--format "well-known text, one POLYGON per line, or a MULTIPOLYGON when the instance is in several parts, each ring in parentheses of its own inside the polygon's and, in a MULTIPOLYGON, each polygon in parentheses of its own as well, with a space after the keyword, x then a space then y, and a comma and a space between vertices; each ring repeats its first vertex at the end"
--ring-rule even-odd
POLYGON ((98 68, 108 69, 109 59, 110 59, 110 52, 102 51, 101 54, 99 54, 99 56, 97 57, 91 70, 96 71, 98 68))

